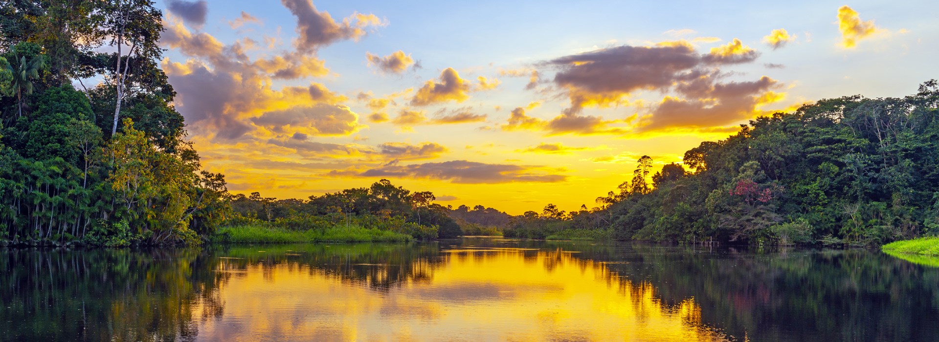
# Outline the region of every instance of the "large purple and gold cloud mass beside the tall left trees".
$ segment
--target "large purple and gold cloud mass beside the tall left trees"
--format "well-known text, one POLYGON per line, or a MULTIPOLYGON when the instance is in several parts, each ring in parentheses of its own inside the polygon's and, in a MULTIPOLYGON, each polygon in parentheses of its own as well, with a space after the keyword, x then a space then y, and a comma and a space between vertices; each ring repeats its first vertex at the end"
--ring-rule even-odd
POLYGON ((260 128, 261 134, 345 135, 361 126, 358 115, 342 105, 347 98, 323 84, 271 87, 273 80, 328 74, 315 55, 294 51, 253 60, 246 53, 254 44, 250 38, 225 45, 206 33, 190 32, 178 19, 167 20, 162 47, 189 59, 178 63, 165 58, 162 68, 177 91, 174 104, 193 134, 237 140, 260 128), (304 119, 302 111, 334 116, 304 119), (289 126, 275 126, 278 122, 289 126))

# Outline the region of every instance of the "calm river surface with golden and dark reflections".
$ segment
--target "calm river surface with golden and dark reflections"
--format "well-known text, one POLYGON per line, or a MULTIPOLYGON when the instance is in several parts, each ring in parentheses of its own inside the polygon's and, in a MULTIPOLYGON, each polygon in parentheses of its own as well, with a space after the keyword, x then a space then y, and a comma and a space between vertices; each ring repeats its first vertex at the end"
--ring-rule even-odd
POLYGON ((856 249, 0 249, 0 297, 4 341, 939 339, 939 268, 856 249))

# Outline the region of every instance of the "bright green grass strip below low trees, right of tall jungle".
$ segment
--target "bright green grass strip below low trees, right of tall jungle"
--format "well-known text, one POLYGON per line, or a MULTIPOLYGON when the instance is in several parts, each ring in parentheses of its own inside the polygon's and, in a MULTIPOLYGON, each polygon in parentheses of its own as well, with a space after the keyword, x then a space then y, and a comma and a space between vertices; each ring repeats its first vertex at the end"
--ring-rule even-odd
POLYGON ((285 230, 261 225, 243 225, 220 229, 213 242, 231 244, 289 244, 289 243, 362 243, 398 242, 414 240, 408 234, 389 230, 367 229, 359 226, 335 227, 325 230, 285 230))

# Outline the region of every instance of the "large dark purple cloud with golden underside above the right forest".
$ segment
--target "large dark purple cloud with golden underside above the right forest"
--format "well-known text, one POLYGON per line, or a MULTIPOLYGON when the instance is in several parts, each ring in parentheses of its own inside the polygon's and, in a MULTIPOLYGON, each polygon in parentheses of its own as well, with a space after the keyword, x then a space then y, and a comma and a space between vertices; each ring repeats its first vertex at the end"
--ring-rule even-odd
MULTIPOLYGON (((539 66, 557 70, 553 82, 562 94, 570 98, 570 108, 550 120, 533 118, 523 109, 516 108, 508 123, 501 128, 541 130, 548 135, 620 135, 680 125, 680 122, 669 119, 680 116, 672 110, 678 108, 705 112, 702 117, 694 112, 686 113, 688 126, 700 126, 706 122, 728 124, 746 118, 748 114, 743 112, 754 111, 768 87, 776 82, 767 82, 771 80, 768 78, 756 82, 719 82, 730 75, 721 72, 719 67, 751 63, 758 57, 759 52, 737 38, 708 53, 697 52, 690 43, 678 40, 652 46, 622 45, 562 56, 539 66), (753 86, 747 88, 742 84, 753 86), (751 92, 731 91, 739 88, 751 92), (672 95, 658 106, 647 109, 650 112, 642 116, 637 113, 621 120, 608 120, 582 114, 585 107, 631 105, 628 98, 640 91, 672 95)), ((634 106, 640 106, 640 103, 634 106)))

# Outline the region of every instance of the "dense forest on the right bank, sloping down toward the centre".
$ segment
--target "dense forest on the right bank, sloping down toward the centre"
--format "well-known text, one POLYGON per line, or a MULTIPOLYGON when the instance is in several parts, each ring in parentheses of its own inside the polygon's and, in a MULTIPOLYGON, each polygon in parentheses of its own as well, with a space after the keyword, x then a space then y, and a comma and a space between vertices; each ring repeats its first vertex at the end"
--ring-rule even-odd
POLYGON ((505 235, 880 245, 937 234, 937 103, 933 80, 909 97, 823 99, 760 117, 726 140, 701 142, 683 165, 652 174, 642 156, 598 207, 564 213, 549 204, 516 217, 505 235))

